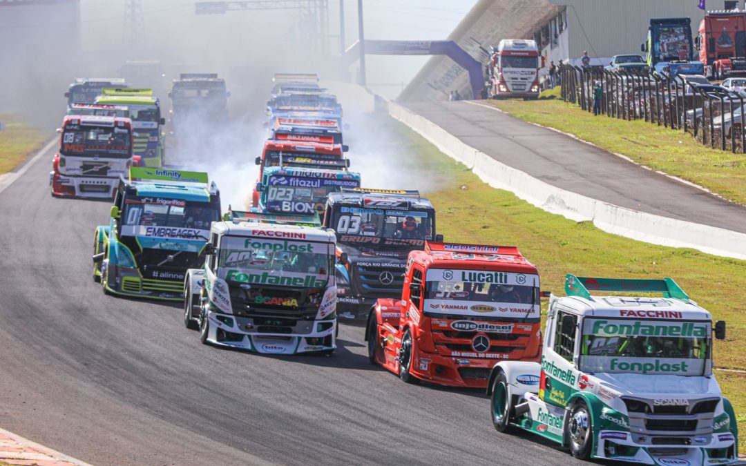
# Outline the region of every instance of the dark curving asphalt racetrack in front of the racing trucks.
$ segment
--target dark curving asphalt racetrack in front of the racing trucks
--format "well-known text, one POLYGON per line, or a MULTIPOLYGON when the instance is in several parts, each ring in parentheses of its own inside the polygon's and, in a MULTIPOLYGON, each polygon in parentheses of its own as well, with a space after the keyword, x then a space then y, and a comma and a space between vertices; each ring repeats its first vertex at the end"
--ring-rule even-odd
POLYGON ((407 385, 343 326, 329 358, 206 347, 181 308, 104 296, 109 202, 53 199, 52 153, 0 194, 0 423, 97 465, 580 464, 498 435, 480 392, 407 385))

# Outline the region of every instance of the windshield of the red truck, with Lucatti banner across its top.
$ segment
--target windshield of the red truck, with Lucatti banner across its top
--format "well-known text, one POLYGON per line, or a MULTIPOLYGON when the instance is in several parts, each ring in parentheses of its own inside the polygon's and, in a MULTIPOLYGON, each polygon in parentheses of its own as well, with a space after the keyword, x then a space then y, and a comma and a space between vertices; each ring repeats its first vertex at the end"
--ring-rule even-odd
POLYGON ((423 309, 443 314, 538 320, 539 276, 430 268, 425 277, 423 309))

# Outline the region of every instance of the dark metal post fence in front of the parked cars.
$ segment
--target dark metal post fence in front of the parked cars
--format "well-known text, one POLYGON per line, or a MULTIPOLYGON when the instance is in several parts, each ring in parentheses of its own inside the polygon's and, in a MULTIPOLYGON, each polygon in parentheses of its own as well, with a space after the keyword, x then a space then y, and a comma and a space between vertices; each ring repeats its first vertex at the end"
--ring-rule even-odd
POLYGON ((703 145, 746 154, 744 98, 686 75, 562 65, 562 100, 609 118, 644 120, 690 133, 703 145), (600 87, 600 89, 599 89, 600 87))

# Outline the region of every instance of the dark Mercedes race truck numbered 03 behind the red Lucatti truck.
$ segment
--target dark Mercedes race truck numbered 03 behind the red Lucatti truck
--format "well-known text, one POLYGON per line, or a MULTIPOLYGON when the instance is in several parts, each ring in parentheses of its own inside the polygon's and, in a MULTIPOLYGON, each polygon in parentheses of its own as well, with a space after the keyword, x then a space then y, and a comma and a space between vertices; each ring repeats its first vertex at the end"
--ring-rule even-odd
POLYGON ((435 209, 417 191, 331 192, 324 226, 337 235, 339 317, 363 322, 377 298, 401 296, 410 251, 436 239, 435 209))

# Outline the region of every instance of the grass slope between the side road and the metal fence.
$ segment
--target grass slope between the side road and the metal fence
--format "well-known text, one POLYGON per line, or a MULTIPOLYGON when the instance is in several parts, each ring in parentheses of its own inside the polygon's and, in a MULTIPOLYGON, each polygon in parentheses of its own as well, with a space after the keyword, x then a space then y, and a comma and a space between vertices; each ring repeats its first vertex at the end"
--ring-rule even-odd
MULTIPOLYGON (((538 101, 489 101, 527 122, 554 127, 622 154, 651 169, 697 183, 724 198, 746 204, 746 155, 703 147, 688 133, 593 116, 560 99, 560 88, 542 92, 538 101)), ((729 146, 730 147, 730 146, 729 146)))

